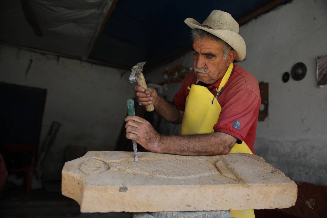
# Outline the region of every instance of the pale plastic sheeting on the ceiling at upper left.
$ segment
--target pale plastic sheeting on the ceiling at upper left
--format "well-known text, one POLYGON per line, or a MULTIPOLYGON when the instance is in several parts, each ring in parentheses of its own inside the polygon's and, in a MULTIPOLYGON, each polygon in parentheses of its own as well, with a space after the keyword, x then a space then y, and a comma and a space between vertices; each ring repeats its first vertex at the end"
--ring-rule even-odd
POLYGON ((86 59, 113 0, 2 0, 0 41, 86 59))

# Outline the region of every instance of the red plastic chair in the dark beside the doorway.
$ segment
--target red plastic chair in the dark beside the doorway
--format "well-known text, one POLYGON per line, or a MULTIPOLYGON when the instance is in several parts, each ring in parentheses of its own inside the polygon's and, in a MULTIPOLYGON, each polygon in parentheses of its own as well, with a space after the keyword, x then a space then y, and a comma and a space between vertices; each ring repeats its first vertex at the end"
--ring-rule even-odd
MULTIPOLYGON (((5 155, 4 153, 7 153, 7 152, 21 153, 22 155, 25 155, 25 156, 30 153, 32 154, 30 163, 27 163, 22 168, 12 169, 12 168, 9 168, 10 165, 6 163, 8 172, 9 171, 16 171, 16 172, 17 171, 25 171, 25 178, 24 178, 25 191, 26 191, 26 194, 29 194, 29 192, 31 190, 32 176, 33 176, 33 169, 34 169, 34 160, 35 160, 34 147, 29 144, 10 143, 10 144, 6 144, 5 146, 3 146, 0 150, 0 153, 2 154, 2 156, 4 156, 5 155)), ((5 156, 4 156, 4 159, 6 159, 5 156)))

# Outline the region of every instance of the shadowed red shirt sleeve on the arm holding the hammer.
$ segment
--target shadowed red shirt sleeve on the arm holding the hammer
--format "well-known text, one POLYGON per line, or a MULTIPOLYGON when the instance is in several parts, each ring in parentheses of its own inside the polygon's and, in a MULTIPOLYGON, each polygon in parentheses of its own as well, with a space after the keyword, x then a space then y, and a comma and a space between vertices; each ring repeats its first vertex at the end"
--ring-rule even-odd
POLYGON ((180 90, 175 94, 173 99, 173 103, 177 106, 177 108, 181 111, 185 110, 185 101, 188 93, 190 92, 187 87, 191 86, 192 74, 194 74, 194 70, 192 69, 187 76, 185 76, 180 90))

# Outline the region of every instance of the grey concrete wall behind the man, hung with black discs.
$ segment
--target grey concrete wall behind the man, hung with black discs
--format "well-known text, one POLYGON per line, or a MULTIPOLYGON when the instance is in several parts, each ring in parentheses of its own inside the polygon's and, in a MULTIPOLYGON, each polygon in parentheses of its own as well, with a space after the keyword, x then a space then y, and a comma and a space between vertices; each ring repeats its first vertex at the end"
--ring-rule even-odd
MULTIPOLYGON (((327 1, 294 0, 242 25, 239 32, 247 56, 238 64, 269 83, 268 117, 258 122, 256 154, 292 179, 326 185, 327 89, 317 88, 316 57, 327 54, 327 1), (283 83, 283 73, 297 62, 306 65, 306 77, 283 83)), ((174 64, 191 67, 192 54, 156 73, 174 64)))

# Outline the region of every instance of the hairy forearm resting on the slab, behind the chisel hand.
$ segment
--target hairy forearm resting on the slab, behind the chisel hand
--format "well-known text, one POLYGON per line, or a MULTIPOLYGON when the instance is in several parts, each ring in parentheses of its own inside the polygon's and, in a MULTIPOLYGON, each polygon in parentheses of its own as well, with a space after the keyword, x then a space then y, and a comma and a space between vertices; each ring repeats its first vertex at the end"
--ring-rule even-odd
POLYGON ((161 136, 157 150, 153 152, 188 156, 225 155, 235 143, 236 138, 223 132, 161 136))

